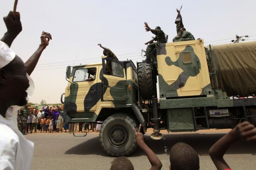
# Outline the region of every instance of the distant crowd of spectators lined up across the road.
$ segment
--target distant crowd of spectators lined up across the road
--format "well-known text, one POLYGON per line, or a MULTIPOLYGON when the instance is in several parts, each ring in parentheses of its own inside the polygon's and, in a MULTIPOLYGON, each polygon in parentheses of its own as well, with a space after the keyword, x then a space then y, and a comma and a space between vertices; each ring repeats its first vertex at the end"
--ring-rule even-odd
POLYGON ((100 131, 101 121, 97 123, 67 123, 60 116, 61 112, 60 106, 42 106, 42 109, 30 109, 28 105, 24 108, 18 110, 17 123, 20 132, 23 135, 28 133, 58 133, 58 132, 68 132, 73 133, 86 131, 87 133, 91 131, 100 131), (78 127, 78 128, 77 128, 78 127))

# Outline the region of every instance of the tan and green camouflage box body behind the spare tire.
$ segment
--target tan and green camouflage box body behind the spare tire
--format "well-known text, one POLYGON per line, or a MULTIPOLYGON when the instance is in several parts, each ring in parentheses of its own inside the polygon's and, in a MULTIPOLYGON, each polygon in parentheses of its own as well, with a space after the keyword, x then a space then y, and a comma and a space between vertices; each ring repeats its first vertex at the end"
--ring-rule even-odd
POLYGON ((203 40, 156 47, 160 98, 203 95, 211 90, 203 40))

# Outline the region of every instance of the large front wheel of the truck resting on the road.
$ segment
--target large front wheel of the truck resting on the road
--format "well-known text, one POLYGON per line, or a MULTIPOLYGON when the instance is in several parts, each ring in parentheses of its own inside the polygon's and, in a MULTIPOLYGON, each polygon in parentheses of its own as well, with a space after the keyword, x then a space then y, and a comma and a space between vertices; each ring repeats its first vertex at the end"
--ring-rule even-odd
POLYGON ((128 156, 137 146, 133 127, 135 121, 126 114, 109 116, 100 128, 100 145, 111 156, 128 156))

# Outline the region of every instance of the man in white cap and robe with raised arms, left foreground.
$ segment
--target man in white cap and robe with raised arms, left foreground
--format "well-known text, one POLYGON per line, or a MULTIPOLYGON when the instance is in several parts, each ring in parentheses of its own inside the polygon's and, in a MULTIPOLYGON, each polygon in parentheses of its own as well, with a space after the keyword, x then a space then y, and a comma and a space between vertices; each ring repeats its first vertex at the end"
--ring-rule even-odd
MULTIPOLYGON (((28 141, 17 127, 15 106, 27 104, 26 97, 33 86, 28 76, 34 70, 42 51, 52 39, 50 33, 42 32, 41 43, 36 52, 24 63, 10 46, 22 31, 19 12, 9 12, 4 17, 7 32, 0 41, 0 166, 1 169, 28 170, 32 162, 34 143, 28 141)), ((31 95, 31 94, 30 94, 31 95)))

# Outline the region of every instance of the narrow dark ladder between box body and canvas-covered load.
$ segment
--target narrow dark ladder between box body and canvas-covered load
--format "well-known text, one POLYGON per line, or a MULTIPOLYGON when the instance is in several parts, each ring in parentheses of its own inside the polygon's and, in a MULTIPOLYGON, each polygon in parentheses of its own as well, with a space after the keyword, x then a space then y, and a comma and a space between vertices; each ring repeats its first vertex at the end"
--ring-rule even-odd
POLYGON ((205 48, 205 53, 206 53, 207 59, 208 59, 207 63, 208 63, 212 88, 217 89, 218 88, 218 79, 217 79, 217 76, 216 76, 216 72, 214 70, 214 63, 213 63, 213 59, 212 59, 212 47, 211 47, 211 45, 209 45, 209 49, 205 48))

